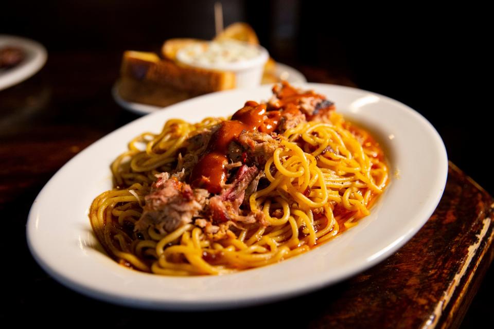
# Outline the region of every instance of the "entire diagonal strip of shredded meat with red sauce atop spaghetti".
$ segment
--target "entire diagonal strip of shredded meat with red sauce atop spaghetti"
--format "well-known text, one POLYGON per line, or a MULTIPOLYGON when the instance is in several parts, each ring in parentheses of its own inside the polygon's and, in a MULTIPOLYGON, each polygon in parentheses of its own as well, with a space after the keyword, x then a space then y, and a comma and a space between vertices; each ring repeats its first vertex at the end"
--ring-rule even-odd
MULTIPOLYGON (((262 117, 257 110, 252 112, 258 104, 247 102, 233 116, 233 121, 194 132, 177 152, 176 172, 171 177, 169 173, 157 175, 158 180, 145 197, 144 212, 136 222, 135 230, 144 232, 152 227, 160 232, 170 232, 193 222, 207 236, 221 240, 232 236, 239 229, 268 226, 262 211, 250 210, 249 198, 258 188, 269 185, 266 178, 262 179, 265 174, 261 168, 273 156, 274 151, 281 147, 279 138, 283 137, 279 134, 308 120, 327 122, 334 109, 334 104, 323 96, 310 91, 302 92, 288 83, 276 85, 273 93, 273 98, 266 104, 269 111, 267 113, 271 116, 266 114, 262 117), (247 122, 251 122, 252 118, 273 124, 272 129, 263 130, 267 129, 266 126, 261 129, 259 125, 249 126, 247 122), (277 123, 273 118, 279 118, 276 119, 277 123), (271 135, 259 130, 270 132, 271 135), (212 153, 215 153, 212 156, 218 156, 221 161, 204 160, 210 160, 212 156, 207 156, 212 153), (218 168, 215 167, 216 163, 219 163, 218 168), (213 170, 205 170, 201 164, 202 167, 213 170), (196 174, 195 168, 198 167, 202 170, 199 170, 202 175, 199 177, 219 181, 215 189, 209 189, 219 193, 209 197, 207 190, 192 188, 186 184, 186 181, 195 181, 190 176, 196 174), (218 172, 222 176, 213 179, 218 172), (230 184, 225 184, 226 182, 230 184)), ((337 153, 338 150, 327 147, 323 154, 326 152, 337 153)), ((289 193, 283 189, 277 191, 281 197, 292 202, 289 193)), ((310 189, 305 194, 309 195, 310 189)), ((323 208, 315 210, 315 213, 317 211, 323 211, 323 208)), ((281 216, 281 211, 275 210, 273 215, 281 216)))

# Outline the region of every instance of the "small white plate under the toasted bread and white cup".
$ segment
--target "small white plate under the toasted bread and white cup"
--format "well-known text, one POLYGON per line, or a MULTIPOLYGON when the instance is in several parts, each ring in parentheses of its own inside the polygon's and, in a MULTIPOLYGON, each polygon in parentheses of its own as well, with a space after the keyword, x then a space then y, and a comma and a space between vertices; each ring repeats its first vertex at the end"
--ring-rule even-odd
MULTIPOLYGON (((279 79, 283 79, 288 81, 289 83, 305 83, 307 82, 307 79, 304 77, 304 75, 294 69, 291 66, 281 64, 281 63, 276 63, 276 73, 275 75, 279 77, 279 79)), ((115 102, 120 105, 121 107, 127 109, 130 112, 133 112, 138 115, 146 115, 149 113, 153 113, 156 111, 160 111, 161 109, 168 108, 168 107, 160 107, 160 106, 155 106, 155 105, 148 105, 148 104, 143 104, 143 103, 135 103, 135 102, 128 102, 125 99, 120 97, 120 94, 118 93, 118 81, 115 82, 112 88, 112 96, 115 102)))

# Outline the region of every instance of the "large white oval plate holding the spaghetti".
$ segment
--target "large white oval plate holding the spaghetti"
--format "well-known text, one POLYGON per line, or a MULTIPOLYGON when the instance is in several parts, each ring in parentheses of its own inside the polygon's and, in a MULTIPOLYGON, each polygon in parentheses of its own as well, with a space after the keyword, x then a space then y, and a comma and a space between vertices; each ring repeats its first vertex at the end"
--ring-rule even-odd
POLYGON ((305 84, 334 101, 339 112, 380 140, 391 165, 391 183, 371 215, 292 259, 225 276, 164 277, 122 266, 99 251, 88 209, 112 188, 110 163, 127 142, 159 132, 170 118, 197 122, 226 116, 246 100, 267 100, 271 86, 209 94, 139 118, 75 156, 33 203, 27 240, 34 258, 56 280, 105 301, 154 309, 218 309, 275 301, 348 278, 384 260, 407 242, 437 206, 448 162, 434 127, 393 99, 349 87, 305 84))

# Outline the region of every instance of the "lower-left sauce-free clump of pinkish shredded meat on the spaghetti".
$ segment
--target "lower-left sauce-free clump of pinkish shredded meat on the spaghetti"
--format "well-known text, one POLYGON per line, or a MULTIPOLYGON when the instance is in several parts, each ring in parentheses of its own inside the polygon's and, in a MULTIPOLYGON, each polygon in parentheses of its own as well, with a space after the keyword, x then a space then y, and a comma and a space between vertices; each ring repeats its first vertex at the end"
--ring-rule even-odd
POLYGON ((183 172, 170 177, 168 173, 158 178, 145 197, 144 212, 135 223, 135 231, 145 231, 150 226, 161 233, 171 232, 192 222, 204 208, 209 193, 203 189, 192 189, 179 179, 183 172))

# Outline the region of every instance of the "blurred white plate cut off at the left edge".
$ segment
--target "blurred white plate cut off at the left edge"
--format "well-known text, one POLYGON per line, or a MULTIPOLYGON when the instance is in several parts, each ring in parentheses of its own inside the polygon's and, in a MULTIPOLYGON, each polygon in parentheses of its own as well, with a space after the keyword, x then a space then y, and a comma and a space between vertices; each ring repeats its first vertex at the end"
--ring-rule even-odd
POLYGON ((12 68, 0 70, 0 90, 20 83, 38 72, 46 62, 46 49, 40 43, 19 36, 0 34, 0 48, 22 48, 24 60, 12 68))

